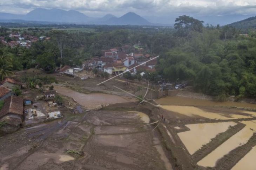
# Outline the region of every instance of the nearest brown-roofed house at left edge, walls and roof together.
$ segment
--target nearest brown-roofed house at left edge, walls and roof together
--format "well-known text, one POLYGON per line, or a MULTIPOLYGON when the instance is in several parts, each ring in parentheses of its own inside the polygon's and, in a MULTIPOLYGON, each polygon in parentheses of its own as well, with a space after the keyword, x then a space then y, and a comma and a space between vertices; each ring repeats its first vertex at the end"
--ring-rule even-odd
POLYGON ((0 130, 3 132, 14 132, 22 126, 23 98, 9 96, 5 99, 4 106, 0 110, 0 122, 4 122, 0 130))

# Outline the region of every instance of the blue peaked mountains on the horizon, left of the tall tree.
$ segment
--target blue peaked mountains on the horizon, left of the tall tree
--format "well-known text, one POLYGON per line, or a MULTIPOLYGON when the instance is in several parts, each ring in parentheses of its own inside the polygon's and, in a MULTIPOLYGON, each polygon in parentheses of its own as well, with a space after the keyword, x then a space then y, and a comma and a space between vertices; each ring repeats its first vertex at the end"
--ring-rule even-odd
POLYGON ((107 24, 107 25, 152 25, 143 17, 129 12, 121 17, 107 14, 103 17, 89 17, 76 10, 36 8, 25 15, 0 13, 0 20, 25 20, 55 23, 107 24))

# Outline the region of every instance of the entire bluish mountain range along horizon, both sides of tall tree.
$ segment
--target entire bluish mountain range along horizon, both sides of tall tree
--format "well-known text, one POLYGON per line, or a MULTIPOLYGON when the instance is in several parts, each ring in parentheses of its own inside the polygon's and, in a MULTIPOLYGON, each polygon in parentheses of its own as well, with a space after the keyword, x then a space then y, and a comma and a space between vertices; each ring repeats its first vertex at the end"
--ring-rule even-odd
MULTIPOLYGON (((140 16, 129 12, 121 17, 107 14, 103 17, 90 17, 76 10, 36 8, 25 15, 0 13, 0 22, 36 22, 36 23, 60 23, 60 24, 98 24, 98 25, 166 25, 173 26, 174 21, 182 14, 169 16, 140 16)), ((237 28, 256 28, 254 15, 223 15, 223 16, 192 16, 204 21, 204 24, 227 25, 237 28), (247 19, 249 18, 249 19, 247 19), (242 20, 242 21, 241 21, 242 20)))

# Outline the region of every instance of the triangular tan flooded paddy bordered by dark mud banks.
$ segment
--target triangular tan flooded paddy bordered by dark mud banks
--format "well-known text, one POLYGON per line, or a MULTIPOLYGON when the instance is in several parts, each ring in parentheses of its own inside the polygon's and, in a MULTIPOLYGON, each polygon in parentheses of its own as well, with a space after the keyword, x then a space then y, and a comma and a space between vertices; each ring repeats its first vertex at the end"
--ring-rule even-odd
POLYGON ((192 155, 203 145, 209 143, 217 134, 228 130, 229 126, 235 126, 235 122, 219 122, 219 123, 202 123, 186 125, 190 131, 180 132, 180 137, 183 144, 192 155))

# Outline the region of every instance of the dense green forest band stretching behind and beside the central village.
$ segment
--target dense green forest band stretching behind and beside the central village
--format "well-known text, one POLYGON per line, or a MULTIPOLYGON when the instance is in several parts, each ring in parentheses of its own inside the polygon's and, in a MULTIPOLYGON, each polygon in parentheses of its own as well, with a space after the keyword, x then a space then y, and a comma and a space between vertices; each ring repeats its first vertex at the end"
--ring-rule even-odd
MULTIPOLYGON (((9 30, 10 31, 10 30, 9 30)), ((256 97, 256 37, 239 35, 232 27, 204 27, 189 16, 176 19, 175 29, 142 27, 100 27, 94 32, 68 33, 48 30, 48 41, 38 41, 31 48, 1 45, 0 74, 32 67, 53 73, 63 65, 81 66, 100 56, 101 50, 140 41, 147 52, 160 55, 157 74, 166 81, 190 80, 194 89, 224 100, 256 97)), ((1 28, 1 35, 8 30, 1 28)), ((35 33, 36 34, 36 31, 35 33)))

